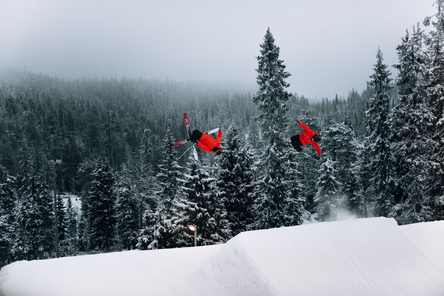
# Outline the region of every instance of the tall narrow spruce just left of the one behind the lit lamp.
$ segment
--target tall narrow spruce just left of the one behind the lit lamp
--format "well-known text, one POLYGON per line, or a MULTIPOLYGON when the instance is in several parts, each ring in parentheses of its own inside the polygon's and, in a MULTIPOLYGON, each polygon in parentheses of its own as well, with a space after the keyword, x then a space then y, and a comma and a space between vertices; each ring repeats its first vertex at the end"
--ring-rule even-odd
POLYGON ((165 158, 163 164, 158 165, 159 173, 156 175, 159 190, 155 194, 159 199, 159 204, 155 211, 145 212, 146 225, 139 235, 137 244, 137 248, 141 250, 166 249, 176 246, 173 238, 172 219, 178 217, 175 197, 178 192, 182 167, 178 165, 176 160, 177 151, 173 143, 174 137, 168 128, 163 140, 165 158), (152 221, 154 223, 151 223, 152 221))

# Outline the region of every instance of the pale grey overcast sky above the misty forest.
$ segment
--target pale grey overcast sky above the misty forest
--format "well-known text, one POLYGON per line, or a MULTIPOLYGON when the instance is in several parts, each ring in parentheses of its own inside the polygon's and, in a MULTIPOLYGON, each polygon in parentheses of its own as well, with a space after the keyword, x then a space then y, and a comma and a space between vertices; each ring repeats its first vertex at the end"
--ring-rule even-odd
MULTIPOLYGON (((0 67, 62 78, 234 79, 254 88, 270 27, 312 99, 362 91, 433 0, 0 0, 0 67)), ((427 31, 429 28, 427 28, 427 31)))

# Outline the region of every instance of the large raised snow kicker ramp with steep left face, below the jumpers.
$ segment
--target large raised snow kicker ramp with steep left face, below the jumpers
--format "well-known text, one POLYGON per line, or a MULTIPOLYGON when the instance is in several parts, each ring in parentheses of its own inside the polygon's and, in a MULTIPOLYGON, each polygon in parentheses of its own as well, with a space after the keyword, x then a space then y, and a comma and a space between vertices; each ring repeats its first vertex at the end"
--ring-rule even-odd
POLYGON ((444 295, 444 270, 392 218, 241 233, 204 264, 239 295, 444 295))

